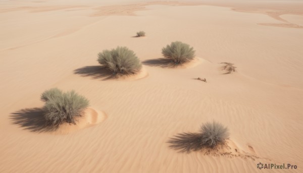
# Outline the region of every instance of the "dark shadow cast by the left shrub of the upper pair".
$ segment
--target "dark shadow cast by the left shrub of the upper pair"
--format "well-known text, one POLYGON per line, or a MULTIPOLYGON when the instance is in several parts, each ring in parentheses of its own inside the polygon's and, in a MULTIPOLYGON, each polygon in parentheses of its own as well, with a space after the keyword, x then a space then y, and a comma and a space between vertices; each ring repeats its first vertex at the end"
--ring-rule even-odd
POLYGON ((74 70, 74 74, 78 74, 82 77, 91 77, 92 79, 109 80, 116 78, 113 72, 105 69, 102 66, 85 66, 74 70))

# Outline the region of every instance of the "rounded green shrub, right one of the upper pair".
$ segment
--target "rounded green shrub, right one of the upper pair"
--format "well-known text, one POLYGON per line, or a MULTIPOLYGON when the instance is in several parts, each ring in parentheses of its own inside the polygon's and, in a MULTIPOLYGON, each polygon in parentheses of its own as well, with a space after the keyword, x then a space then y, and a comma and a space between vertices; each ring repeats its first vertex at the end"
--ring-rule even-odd
POLYGON ((162 48, 162 54, 175 64, 181 64, 192 60, 195 56, 195 50, 188 44, 181 41, 172 42, 170 45, 162 48))

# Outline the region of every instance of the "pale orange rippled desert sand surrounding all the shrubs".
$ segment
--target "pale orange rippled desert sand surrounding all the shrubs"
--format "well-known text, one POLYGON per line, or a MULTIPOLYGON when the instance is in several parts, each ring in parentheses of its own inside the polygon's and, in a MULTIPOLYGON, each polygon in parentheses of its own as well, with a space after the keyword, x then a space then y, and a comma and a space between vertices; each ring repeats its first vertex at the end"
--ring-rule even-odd
POLYGON ((301 1, 1 1, 0 172, 302 172, 302 14, 301 1), (199 63, 158 61, 176 40, 199 63), (139 57, 140 77, 97 71, 97 53, 118 45, 139 57), (223 74, 223 62, 237 71, 223 74), (33 120, 53 87, 84 95, 102 117, 43 132, 33 120), (232 154, 169 148, 213 120, 229 128, 232 154))

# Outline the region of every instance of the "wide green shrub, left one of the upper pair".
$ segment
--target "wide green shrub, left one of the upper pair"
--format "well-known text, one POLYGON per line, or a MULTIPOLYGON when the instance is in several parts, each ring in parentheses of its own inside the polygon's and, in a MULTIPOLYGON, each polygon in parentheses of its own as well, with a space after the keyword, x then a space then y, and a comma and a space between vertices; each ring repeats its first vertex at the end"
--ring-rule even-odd
POLYGON ((98 53, 99 64, 114 72, 114 74, 135 74, 142 65, 134 51, 118 46, 116 49, 103 50, 98 53))

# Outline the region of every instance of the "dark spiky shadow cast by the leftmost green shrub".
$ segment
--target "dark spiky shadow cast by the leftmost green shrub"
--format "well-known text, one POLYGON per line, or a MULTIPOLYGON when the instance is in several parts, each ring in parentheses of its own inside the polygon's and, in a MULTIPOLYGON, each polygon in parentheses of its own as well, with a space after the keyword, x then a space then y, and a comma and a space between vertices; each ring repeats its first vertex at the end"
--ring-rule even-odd
POLYGON ((10 119, 13 124, 31 132, 50 132, 56 129, 46 123, 43 109, 39 107, 20 109, 13 112, 10 119))

